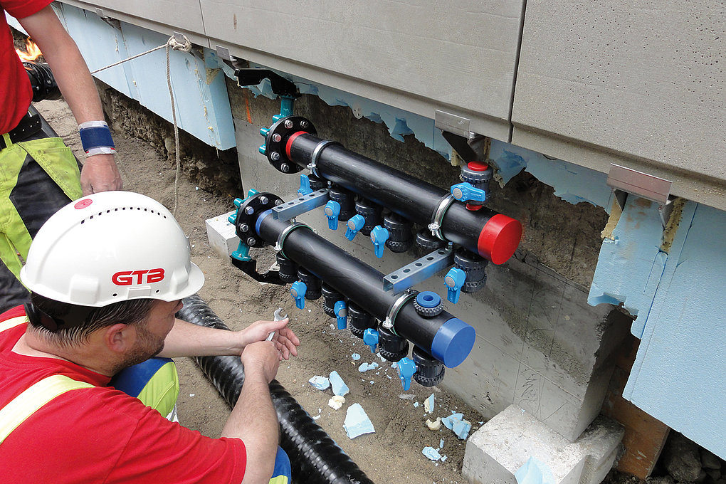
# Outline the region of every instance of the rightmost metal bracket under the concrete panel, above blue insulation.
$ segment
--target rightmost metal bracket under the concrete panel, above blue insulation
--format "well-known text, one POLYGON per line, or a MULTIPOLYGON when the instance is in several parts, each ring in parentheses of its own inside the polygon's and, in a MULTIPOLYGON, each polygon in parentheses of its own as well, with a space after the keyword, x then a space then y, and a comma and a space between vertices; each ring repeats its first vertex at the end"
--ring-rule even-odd
POLYGON ((634 194, 637 197, 656 202, 658 213, 661 215, 661 223, 664 227, 667 225, 673 210, 672 202, 675 200, 675 197, 670 194, 672 181, 611 163, 606 183, 613 189, 615 200, 621 210, 625 208, 628 194, 634 194))

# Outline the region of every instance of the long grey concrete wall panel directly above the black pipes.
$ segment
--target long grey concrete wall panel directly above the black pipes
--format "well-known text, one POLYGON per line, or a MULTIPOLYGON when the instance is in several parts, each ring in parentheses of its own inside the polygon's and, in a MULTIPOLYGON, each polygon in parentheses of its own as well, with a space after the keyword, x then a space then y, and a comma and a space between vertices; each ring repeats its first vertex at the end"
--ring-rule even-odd
POLYGON ((509 138, 521 1, 201 0, 211 44, 311 81, 509 138))

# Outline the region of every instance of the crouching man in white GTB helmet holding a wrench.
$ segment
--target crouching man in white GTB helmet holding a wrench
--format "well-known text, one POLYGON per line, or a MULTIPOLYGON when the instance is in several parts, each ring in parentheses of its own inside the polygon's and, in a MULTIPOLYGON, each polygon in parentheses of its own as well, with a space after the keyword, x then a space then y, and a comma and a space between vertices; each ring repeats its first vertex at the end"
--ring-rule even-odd
POLYGON ((289 483, 268 384, 298 337, 287 319, 240 332, 175 319, 204 283, 189 250, 171 213, 131 192, 71 202, 38 231, 21 271, 32 302, 0 316, 3 482, 289 483), (148 361, 218 355, 245 367, 221 438, 164 418, 174 382, 142 390, 160 411, 109 386, 138 393, 144 372, 125 373, 148 361))

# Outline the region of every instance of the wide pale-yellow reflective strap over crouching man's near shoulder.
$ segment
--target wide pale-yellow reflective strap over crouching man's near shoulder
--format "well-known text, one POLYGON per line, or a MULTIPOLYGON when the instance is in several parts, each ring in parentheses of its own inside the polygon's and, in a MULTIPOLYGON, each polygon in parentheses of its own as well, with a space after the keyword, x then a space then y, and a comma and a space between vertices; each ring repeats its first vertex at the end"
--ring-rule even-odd
POLYGON ((93 387, 90 383, 77 382, 61 374, 54 374, 30 385, 27 390, 13 398, 0 409, 0 443, 25 422, 30 415, 68 390, 93 387))

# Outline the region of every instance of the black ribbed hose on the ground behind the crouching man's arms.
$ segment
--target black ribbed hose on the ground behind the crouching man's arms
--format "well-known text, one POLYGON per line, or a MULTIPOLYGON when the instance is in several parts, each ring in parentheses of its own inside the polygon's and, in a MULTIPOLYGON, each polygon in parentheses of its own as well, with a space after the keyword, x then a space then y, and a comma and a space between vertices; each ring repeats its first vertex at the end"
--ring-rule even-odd
MULTIPOLYGON (((179 319, 199 326, 229 329, 198 295, 184 298, 179 319)), ((195 361, 229 406, 237 403, 245 369, 237 356, 198 356, 195 361)), ((277 380, 269 385, 282 440, 296 483, 373 484, 348 455, 315 423, 277 380)))

